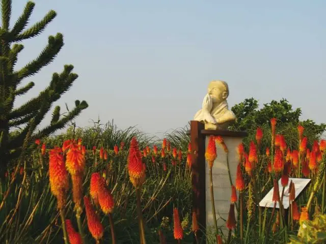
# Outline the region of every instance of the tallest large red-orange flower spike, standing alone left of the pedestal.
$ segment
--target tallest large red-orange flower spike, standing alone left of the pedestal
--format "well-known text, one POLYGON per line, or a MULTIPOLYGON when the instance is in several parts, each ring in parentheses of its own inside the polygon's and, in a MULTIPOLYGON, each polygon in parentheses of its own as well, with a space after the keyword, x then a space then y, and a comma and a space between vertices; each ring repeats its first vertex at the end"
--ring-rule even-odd
POLYGON ((139 187, 145 180, 145 164, 142 161, 142 153, 139 150, 138 141, 135 137, 131 139, 129 154, 128 154, 128 173, 130 181, 134 187, 139 187))

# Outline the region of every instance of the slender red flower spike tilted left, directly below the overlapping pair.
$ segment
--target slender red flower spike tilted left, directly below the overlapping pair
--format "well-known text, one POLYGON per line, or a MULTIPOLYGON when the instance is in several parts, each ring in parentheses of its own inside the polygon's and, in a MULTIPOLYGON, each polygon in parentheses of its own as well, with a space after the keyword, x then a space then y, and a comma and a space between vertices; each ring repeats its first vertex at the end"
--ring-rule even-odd
POLYGON ((88 229, 95 240, 100 240, 103 237, 104 228, 96 215, 88 197, 84 197, 84 204, 87 216, 88 229))

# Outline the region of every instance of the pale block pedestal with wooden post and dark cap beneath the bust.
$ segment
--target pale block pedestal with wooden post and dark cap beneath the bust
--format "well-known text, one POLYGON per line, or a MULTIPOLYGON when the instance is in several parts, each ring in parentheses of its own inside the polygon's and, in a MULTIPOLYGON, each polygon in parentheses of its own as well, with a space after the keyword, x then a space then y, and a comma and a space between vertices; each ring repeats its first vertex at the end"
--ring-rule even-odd
MULTIPOLYGON (((197 213, 199 226, 207 231, 214 228, 212 205, 210 198, 209 168, 205 160, 205 148, 209 136, 221 136, 226 143, 229 153, 229 168, 232 183, 235 186, 236 167, 238 164, 237 147, 242 139, 247 136, 245 132, 234 132, 225 130, 204 130, 204 124, 191 121, 191 143, 192 143, 192 187, 193 187, 193 209, 197 213)), ((216 158, 212 168, 214 187, 214 202, 218 227, 228 234, 226 220, 230 208, 231 184, 227 167, 227 154, 220 145, 216 144, 216 158)), ((203 233, 198 233, 204 238, 203 233)), ((206 240, 207 241, 207 240, 206 240)))

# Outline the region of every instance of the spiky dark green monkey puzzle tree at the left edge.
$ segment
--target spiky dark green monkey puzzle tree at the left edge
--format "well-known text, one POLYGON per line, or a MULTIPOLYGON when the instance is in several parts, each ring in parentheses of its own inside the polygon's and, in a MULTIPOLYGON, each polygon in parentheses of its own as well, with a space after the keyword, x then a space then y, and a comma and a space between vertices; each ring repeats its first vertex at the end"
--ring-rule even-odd
POLYGON ((64 45, 63 35, 48 38, 48 44, 42 52, 20 70, 15 70, 17 56, 23 49, 21 41, 38 36, 56 17, 56 12, 49 11, 44 18, 26 28, 35 4, 28 2, 23 13, 10 28, 11 0, 1 0, 2 25, 0 27, 0 168, 3 170, 11 160, 22 161, 26 151, 34 146, 37 138, 43 138, 65 125, 88 107, 86 101, 75 101, 75 108, 60 116, 60 106, 52 112, 48 126, 36 130, 46 113, 61 95, 67 92, 77 79, 72 73, 73 66, 65 65, 62 73, 54 73, 50 84, 40 94, 14 108, 16 97, 26 94, 33 88, 34 82, 19 86, 23 79, 37 74, 57 56, 64 45), (13 130, 20 127, 21 130, 13 130))

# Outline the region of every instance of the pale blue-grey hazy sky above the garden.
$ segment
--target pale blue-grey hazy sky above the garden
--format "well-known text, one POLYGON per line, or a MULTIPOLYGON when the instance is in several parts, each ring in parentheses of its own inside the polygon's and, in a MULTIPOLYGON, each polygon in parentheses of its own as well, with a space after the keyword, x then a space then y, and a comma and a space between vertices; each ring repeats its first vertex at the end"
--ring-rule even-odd
MULTIPOLYGON (((72 64, 79 77, 55 105, 65 112, 65 103, 72 108, 74 100, 86 100, 89 108, 75 119, 79 127, 99 117, 160 136, 193 119, 214 79, 228 82, 229 107, 251 97, 261 105, 286 98, 302 108, 302 119, 326 122, 324 0, 34 2, 30 25, 50 9, 58 16, 23 42, 16 69, 34 59, 50 35, 62 33, 65 46, 22 82, 36 85, 16 106, 72 64)), ((11 26, 25 3, 13 0, 11 26)))

